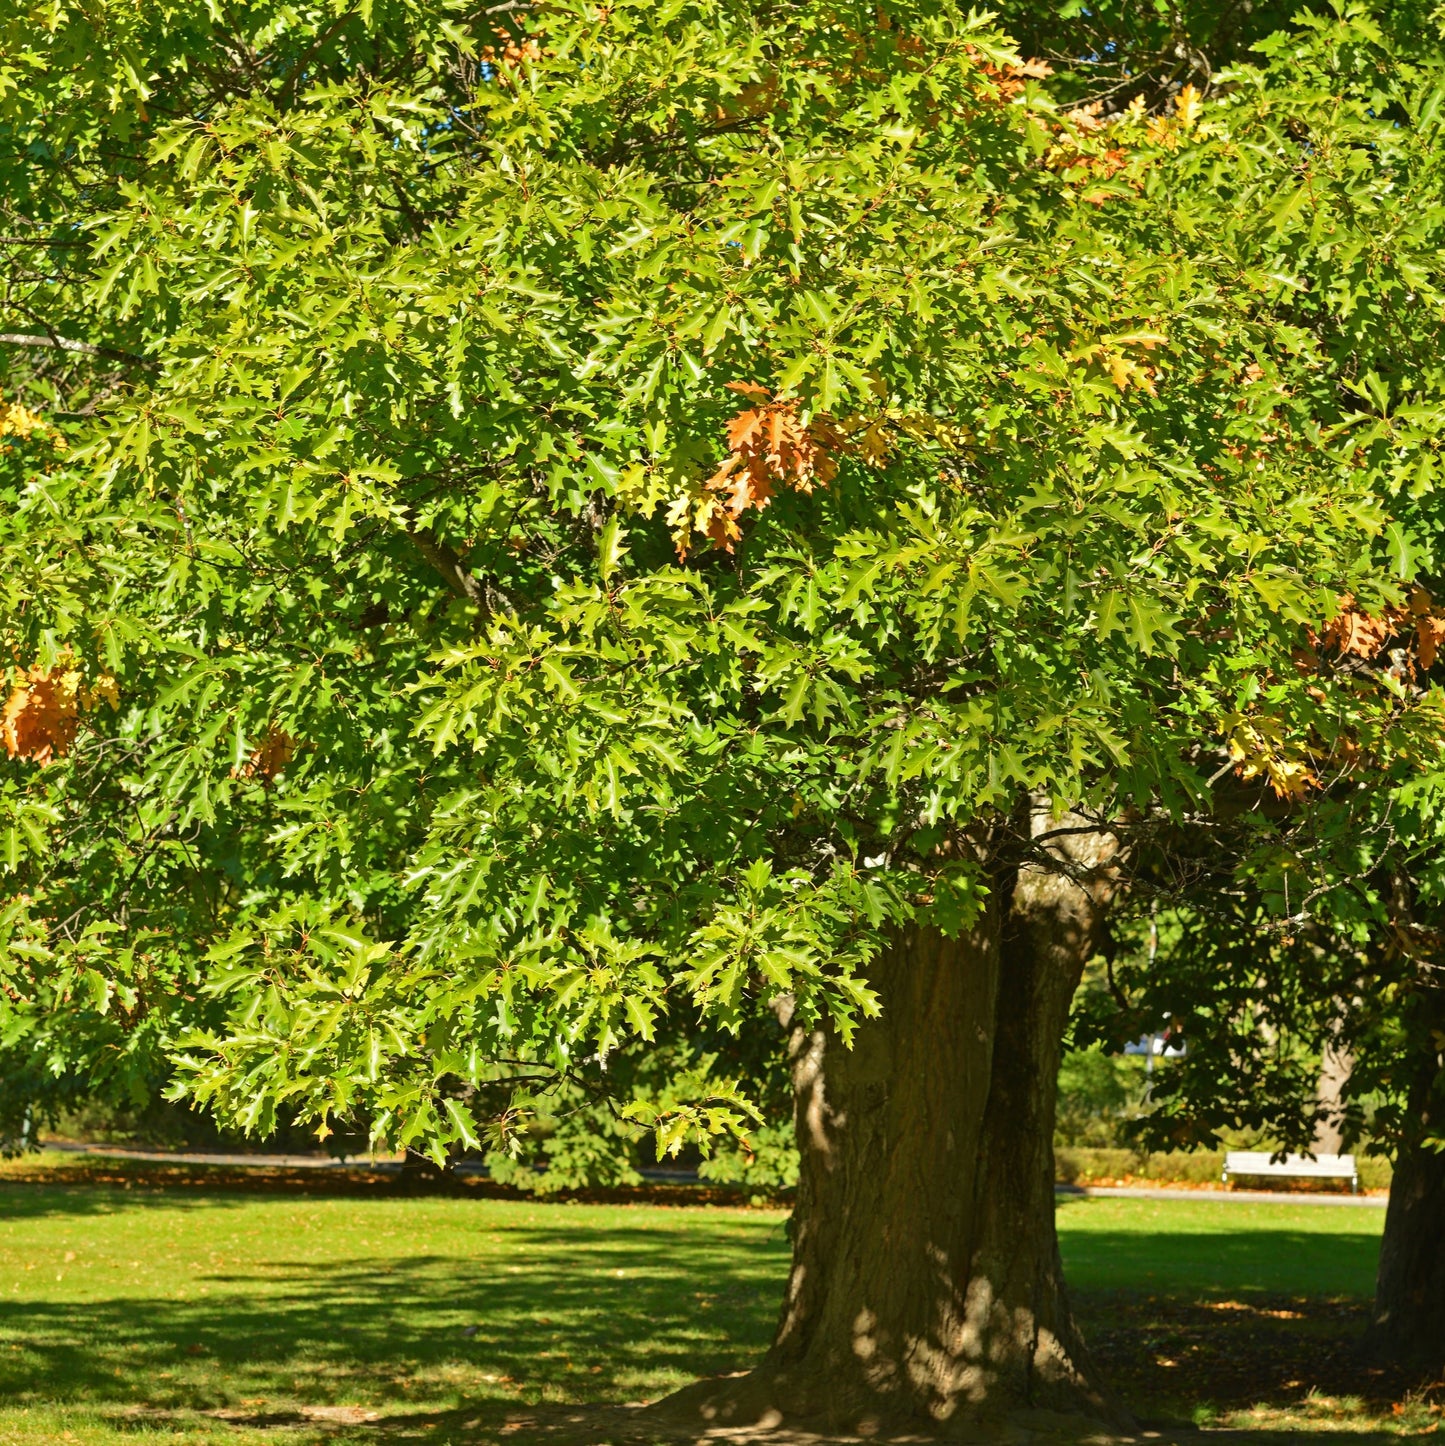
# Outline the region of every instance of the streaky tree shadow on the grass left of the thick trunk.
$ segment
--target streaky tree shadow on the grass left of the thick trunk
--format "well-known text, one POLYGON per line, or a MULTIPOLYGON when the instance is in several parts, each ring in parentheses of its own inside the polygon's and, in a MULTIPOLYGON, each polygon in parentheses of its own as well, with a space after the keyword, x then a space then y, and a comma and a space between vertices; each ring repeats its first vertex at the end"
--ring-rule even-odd
POLYGON ((739 1369, 767 1345, 781 1241, 729 1254, 642 1225, 503 1233, 515 1264, 282 1258, 195 1274, 204 1299, 0 1301, 0 1398, 618 1401, 648 1381, 739 1369))

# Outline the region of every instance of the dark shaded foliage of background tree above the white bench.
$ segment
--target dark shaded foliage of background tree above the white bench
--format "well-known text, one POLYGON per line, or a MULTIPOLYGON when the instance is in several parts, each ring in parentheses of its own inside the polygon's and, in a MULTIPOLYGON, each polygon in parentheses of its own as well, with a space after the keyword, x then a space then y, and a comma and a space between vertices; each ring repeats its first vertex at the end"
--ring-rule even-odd
POLYGON ((1083 1038, 1112 1043, 1170 1021, 1188 1044, 1157 1071, 1130 1139, 1309 1150, 1323 1126, 1347 1150, 1393 1155, 1441 1138, 1438 846, 1431 830, 1393 859, 1377 843, 1364 836, 1368 868, 1300 917, 1254 889, 1211 892, 1170 920, 1153 967, 1138 954, 1120 962, 1118 998, 1080 1001, 1083 1038), (1325 1051, 1344 1066, 1338 1099, 1321 1096, 1325 1051))

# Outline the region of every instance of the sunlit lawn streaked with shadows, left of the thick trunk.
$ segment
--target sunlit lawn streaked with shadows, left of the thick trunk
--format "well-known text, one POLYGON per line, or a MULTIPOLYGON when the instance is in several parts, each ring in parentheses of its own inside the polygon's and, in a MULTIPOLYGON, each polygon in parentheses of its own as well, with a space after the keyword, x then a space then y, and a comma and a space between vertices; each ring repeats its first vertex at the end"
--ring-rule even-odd
POLYGON ((184 1200, 6 1210, 0 1397, 632 1400, 743 1365, 787 1261, 743 1212, 184 1200))

